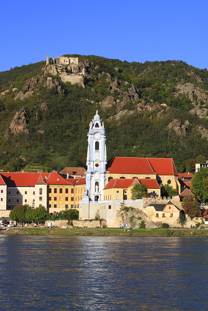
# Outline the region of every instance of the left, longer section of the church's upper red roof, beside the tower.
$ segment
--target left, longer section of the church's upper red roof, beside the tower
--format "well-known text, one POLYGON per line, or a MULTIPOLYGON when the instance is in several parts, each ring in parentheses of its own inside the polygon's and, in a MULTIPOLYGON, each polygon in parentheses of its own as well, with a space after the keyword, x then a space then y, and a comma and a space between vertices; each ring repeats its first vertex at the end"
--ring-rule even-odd
POLYGON ((155 174, 147 158, 113 157, 106 170, 111 174, 155 174))

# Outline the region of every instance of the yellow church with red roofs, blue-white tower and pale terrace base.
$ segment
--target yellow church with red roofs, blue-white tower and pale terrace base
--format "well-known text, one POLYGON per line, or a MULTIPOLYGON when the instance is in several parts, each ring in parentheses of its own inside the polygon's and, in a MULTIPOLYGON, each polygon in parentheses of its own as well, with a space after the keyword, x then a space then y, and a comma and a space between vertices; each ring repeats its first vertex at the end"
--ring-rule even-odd
MULTIPOLYGON (((172 158, 113 157, 107 162, 106 133, 98 110, 89 124, 86 189, 79 202, 79 219, 112 220, 121 202, 142 209, 142 199, 131 200, 131 188, 146 183, 149 196, 160 197, 160 184, 180 189, 172 158)), ((108 221, 108 223, 109 223, 108 221)), ((109 224, 110 225, 110 224, 109 224)))

